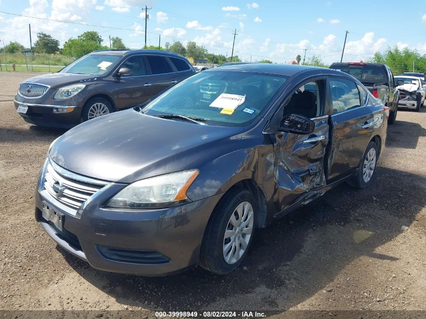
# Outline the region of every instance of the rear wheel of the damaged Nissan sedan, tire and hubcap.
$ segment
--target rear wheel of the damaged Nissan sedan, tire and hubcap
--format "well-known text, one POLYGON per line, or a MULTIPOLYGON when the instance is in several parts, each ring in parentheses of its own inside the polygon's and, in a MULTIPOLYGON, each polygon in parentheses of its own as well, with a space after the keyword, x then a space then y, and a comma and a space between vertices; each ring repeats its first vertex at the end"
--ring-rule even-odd
POLYGON ((377 145, 371 141, 358 165, 358 172, 348 180, 348 184, 356 188, 366 188, 374 175, 377 163, 377 145))

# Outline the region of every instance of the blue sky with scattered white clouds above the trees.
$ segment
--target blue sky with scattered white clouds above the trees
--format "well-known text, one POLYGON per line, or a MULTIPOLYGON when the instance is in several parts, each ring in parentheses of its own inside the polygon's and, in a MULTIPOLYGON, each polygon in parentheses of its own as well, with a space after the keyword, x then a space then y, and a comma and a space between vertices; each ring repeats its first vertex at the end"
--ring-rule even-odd
POLYGON ((119 36, 131 48, 175 40, 196 41, 209 52, 230 56, 232 31, 237 29, 234 54, 244 60, 267 58, 289 62, 297 54, 321 55, 325 62, 340 60, 345 30, 349 31, 344 60, 359 61, 388 45, 426 53, 426 0, 371 1, 171 1, 171 0, 0 0, 0 11, 63 23, 0 13, 0 44, 19 41, 29 46, 39 31, 63 44, 87 30, 96 30, 109 45, 119 36), (141 15, 142 13, 142 15, 141 15), (102 27, 91 27, 85 24, 102 27))

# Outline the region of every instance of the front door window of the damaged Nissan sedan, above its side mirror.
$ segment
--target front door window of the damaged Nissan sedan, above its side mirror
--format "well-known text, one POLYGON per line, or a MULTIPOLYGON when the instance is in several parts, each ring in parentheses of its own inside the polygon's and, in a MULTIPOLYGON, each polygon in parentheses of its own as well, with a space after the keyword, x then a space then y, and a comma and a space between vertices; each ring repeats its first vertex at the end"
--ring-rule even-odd
POLYGON ((324 101, 324 81, 317 80, 301 85, 284 105, 283 116, 299 114, 308 118, 321 116, 324 101))

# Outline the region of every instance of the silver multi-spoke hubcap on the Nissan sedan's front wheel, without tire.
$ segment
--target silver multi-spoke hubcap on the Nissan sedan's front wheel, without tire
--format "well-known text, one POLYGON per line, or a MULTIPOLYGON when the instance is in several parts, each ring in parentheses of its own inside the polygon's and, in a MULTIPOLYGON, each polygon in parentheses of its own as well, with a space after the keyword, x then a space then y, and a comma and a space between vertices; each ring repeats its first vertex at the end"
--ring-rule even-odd
POLYGON ((223 258, 229 265, 244 255, 253 232, 254 213, 249 202, 240 203, 232 212, 223 237, 223 258))

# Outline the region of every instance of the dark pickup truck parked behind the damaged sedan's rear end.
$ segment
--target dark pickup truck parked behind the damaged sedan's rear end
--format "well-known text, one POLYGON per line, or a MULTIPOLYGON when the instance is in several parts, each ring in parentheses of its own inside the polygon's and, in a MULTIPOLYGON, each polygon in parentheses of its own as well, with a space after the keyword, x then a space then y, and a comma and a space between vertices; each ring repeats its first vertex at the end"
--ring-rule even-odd
POLYGON ((364 62, 336 62, 330 69, 350 74, 360 81, 375 98, 380 99, 389 107, 389 124, 393 124, 398 112, 400 92, 397 87, 404 84, 396 83, 391 69, 385 64, 364 62))

